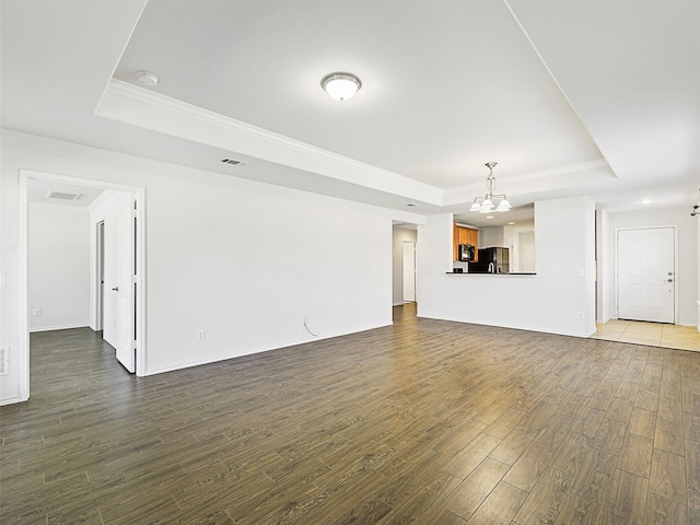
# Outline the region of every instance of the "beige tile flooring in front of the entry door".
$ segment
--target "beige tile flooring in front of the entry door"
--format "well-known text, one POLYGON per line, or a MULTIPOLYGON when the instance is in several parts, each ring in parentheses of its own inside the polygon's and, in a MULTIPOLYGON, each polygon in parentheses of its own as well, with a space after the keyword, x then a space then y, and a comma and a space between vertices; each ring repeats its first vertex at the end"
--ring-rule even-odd
POLYGON ((700 351, 700 332, 695 326, 610 319, 596 328, 594 339, 700 351))

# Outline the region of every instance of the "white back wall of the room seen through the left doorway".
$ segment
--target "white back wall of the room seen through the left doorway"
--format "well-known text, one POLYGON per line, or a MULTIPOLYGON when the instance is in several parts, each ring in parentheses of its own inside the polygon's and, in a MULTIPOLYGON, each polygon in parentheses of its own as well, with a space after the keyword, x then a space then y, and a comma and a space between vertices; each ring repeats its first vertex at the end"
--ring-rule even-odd
POLYGON ((30 207, 30 331, 88 326, 90 237, 85 209, 30 207), (34 311, 40 315, 35 316, 34 311))

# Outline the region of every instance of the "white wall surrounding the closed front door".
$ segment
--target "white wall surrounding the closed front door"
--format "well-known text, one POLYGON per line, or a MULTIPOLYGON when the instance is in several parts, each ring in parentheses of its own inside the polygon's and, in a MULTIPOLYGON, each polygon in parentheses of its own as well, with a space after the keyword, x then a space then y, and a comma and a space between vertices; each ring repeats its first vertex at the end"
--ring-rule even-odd
POLYGON ((698 218, 690 217, 688 207, 651 209, 634 212, 609 213, 607 221, 607 247, 604 259, 606 308, 616 317, 615 304, 615 231, 626 228, 677 226, 678 232, 678 320, 680 325, 698 323, 698 218))

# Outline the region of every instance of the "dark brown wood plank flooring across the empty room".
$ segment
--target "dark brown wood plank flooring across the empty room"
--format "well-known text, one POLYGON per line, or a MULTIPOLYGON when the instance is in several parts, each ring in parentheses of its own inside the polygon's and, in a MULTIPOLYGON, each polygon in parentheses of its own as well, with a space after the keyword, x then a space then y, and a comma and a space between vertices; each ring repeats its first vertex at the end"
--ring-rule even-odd
POLYGON ((413 308, 142 378, 89 329, 33 335, 0 522, 700 524, 699 353, 413 308))

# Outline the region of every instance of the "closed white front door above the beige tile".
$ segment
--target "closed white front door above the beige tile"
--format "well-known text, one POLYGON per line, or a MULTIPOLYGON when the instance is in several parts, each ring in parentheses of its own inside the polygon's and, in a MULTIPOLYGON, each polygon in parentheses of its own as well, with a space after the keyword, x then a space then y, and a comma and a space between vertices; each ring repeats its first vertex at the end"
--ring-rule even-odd
POLYGON ((675 322, 674 228, 617 232, 618 318, 675 322))

